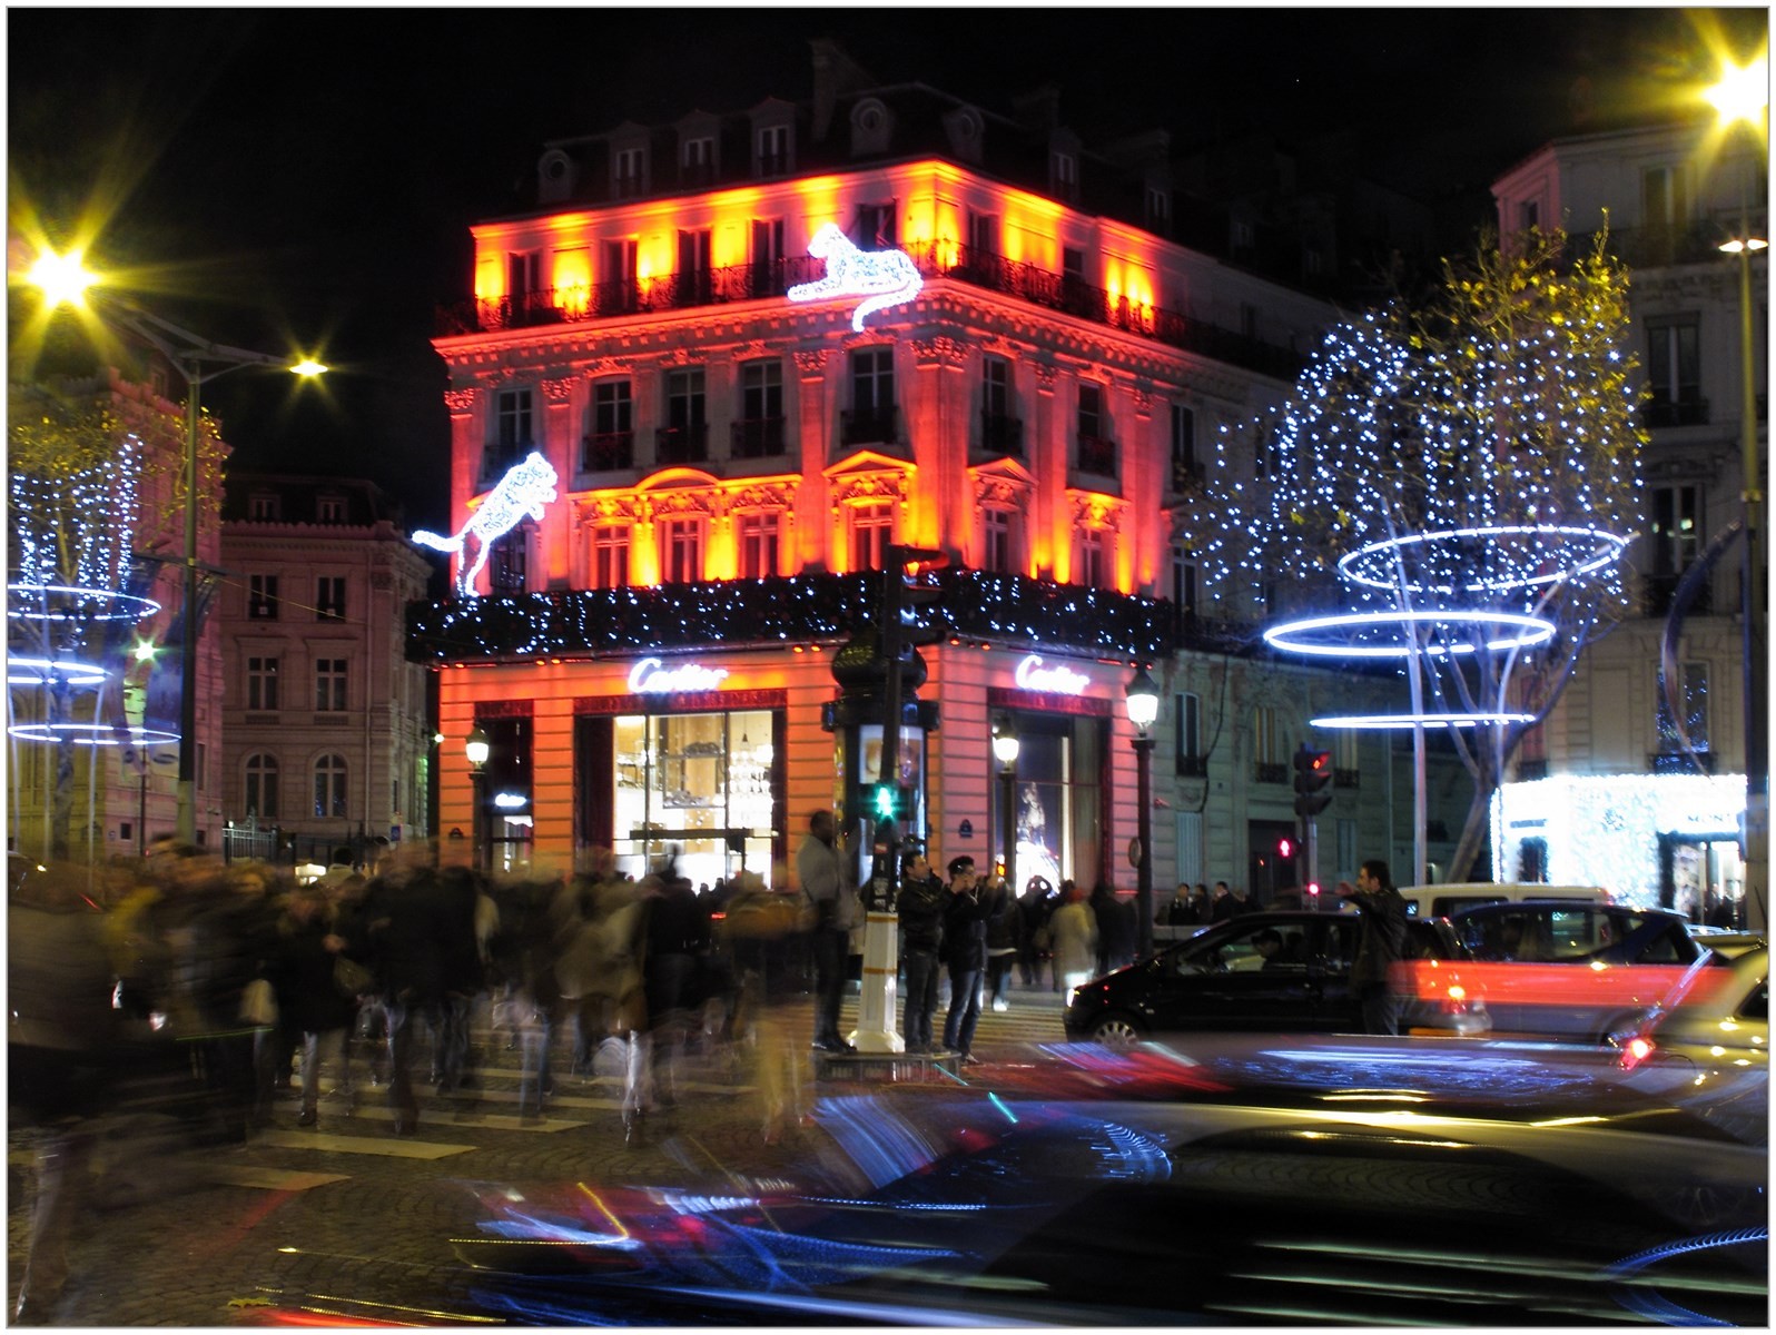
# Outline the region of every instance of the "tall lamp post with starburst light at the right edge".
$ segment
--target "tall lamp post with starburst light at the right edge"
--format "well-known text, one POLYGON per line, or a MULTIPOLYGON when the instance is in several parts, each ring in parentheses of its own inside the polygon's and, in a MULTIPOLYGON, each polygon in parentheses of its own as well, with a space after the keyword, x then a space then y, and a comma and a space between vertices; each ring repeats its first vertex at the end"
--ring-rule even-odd
MULTIPOLYGON (((1723 133, 1744 121, 1756 140, 1769 110, 1769 64, 1765 59, 1746 67, 1728 67, 1709 91, 1723 133)), ((1756 142, 1755 142, 1756 147, 1756 142)), ((1762 162, 1762 153, 1753 154, 1762 162)), ((1740 623, 1744 637, 1746 694, 1746 882, 1748 925, 1762 930, 1769 923, 1769 682, 1764 607, 1764 470, 1758 465, 1756 359, 1753 357, 1751 256, 1769 247, 1751 234, 1751 190, 1739 178, 1739 234, 1721 250, 1739 256, 1739 458, 1742 470, 1740 513, 1744 517, 1744 577, 1740 579, 1740 623)))

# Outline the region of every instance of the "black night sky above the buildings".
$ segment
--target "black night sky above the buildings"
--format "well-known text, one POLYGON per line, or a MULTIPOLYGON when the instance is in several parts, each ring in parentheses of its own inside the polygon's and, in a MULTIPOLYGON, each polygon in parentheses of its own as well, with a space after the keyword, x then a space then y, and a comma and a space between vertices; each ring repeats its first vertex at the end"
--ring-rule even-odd
MULTIPOLYGON (((1749 57, 1765 9, 7 11, 11 233, 89 234, 158 314, 320 348, 327 394, 206 387, 234 465, 368 476, 448 527, 433 311, 472 220, 519 206, 547 138, 810 91, 828 36, 883 82, 1007 112, 1060 89, 1090 144, 1353 131, 1369 174, 1456 222, 1558 135, 1646 119, 1749 57)), ((1471 220, 1471 222, 1469 222, 1471 220)), ((18 350, 14 348, 14 373, 18 350)))

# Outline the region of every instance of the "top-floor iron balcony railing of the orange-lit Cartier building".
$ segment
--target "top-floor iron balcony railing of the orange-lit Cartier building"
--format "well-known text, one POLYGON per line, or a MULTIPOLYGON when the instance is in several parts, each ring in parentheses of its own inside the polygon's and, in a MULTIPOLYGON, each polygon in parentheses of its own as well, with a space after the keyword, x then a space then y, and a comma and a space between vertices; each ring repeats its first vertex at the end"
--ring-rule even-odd
MULTIPOLYGON (((1014 296, 1051 311, 1064 311, 1080 320, 1138 334, 1279 380, 1293 380, 1305 360, 1293 348, 1282 348, 1249 334, 1220 328, 1218 325, 1185 316, 1179 311, 1112 298, 1108 291, 1094 288, 1083 279, 1053 273, 1018 259, 1005 259, 977 247, 924 241, 902 249, 918 265, 920 275, 927 280, 954 279, 968 282, 986 291, 1014 296)), ((698 295, 707 293, 710 305, 721 305, 723 302, 781 296, 790 284, 813 282, 824 273, 824 259, 787 256, 765 265, 732 265, 728 268, 702 270, 693 277, 702 284, 694 291, 698 295)), ((442 337, 451 337, 529 325, 556 325, 618 314, 671 311, 693 304, 691 300, 680 300, 677 277, 666 275, 646 282, 622 279, 591 288, 561 288, 492 300, 460 302, 439 309, 437 332, 442 337)))

